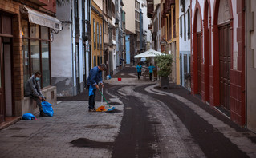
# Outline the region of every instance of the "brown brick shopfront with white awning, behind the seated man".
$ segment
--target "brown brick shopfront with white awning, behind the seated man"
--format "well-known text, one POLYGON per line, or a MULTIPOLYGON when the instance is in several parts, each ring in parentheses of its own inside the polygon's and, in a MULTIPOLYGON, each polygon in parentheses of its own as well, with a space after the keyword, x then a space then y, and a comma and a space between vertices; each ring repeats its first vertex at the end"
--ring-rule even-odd
POLYGON ((62 23, 55 18, 55 11, 55 1, 0 1, 0 123, 8 117, 39 112, 24 96, 25 83, 36 71, 42 73, 43 95, 56 104, 56 87, 51 83, 51 33, 61 30, 62 23))

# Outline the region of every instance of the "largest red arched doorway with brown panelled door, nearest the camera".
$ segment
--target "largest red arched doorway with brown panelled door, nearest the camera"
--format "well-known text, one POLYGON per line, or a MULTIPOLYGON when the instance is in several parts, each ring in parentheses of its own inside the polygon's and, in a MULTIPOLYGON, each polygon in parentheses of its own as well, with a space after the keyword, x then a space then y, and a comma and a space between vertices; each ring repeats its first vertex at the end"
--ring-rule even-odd
POLYGON ((230 70, 233 21, 230 0, 217 0, 213 17, 214 105, 230 111, 230 70))

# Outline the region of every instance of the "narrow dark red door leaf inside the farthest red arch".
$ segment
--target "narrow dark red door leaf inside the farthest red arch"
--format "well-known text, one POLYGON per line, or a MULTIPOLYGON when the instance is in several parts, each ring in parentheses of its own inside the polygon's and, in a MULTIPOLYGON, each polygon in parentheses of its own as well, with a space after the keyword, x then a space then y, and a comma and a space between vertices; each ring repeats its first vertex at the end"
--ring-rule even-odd
POLYGON ((201 33, 197 34, 197 86, 198 94, 201 94, 201 33))

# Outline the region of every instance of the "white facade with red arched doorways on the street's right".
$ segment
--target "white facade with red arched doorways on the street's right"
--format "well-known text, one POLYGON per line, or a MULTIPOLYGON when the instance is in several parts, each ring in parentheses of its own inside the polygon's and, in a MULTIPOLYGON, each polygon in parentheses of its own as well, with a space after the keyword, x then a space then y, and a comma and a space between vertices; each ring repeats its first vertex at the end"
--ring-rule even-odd
POLYGON ((245 0, 192 1, 192 92, 246 124, 245 0))

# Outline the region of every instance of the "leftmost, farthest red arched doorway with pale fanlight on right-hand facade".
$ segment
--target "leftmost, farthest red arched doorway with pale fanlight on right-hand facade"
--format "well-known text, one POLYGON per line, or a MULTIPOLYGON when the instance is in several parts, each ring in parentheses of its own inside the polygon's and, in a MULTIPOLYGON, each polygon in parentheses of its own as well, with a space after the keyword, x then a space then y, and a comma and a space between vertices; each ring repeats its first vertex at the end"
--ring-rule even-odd
POLYGON ((197 2, 193 19, 193 93, 201 95, 202 83, 202 22, 201 9, 197 2))

